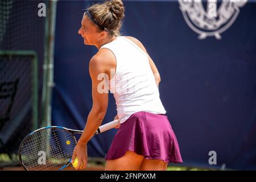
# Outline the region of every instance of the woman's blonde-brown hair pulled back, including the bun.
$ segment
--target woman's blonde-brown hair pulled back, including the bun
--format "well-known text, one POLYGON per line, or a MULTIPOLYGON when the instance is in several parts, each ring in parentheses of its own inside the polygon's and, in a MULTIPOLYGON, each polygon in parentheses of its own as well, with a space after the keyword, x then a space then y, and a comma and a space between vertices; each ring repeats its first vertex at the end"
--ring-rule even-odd
POLYGON ((106 1, 90 6, 88 9, 94 21, 104 27, 110 36, 119 36, 122 19, 125 17, 125 7, 121 0, 106 1))

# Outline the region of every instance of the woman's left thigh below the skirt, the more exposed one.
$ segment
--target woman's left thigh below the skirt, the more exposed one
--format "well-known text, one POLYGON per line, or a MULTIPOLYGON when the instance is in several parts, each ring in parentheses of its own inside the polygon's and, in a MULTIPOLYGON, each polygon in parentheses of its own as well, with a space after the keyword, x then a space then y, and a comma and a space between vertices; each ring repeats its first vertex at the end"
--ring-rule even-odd
POLYGON ((107 160, 106 171, 137 171, 144 160, 143 155, 138 155, 133 151, 127 151, 121 158, 107 160))

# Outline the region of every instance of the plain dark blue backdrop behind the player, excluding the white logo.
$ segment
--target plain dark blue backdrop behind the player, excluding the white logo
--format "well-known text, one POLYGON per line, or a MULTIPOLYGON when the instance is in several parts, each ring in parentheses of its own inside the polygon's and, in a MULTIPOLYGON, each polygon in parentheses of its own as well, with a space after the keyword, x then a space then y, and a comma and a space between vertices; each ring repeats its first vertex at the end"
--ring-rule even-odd
MULTIPOLYGON (((85 46, 77 34, 83 9, 92 3, 57 2, 53 125, 83 129, 92 107, 88 64, 97 48, 85 46)), ((159 69, 160 98, 179 141, 182 165, 256 169, 256 2, 240 7, 220 40, 198 39, 177 1, 124 4, 122 33, 141 40, 159 69), (208 163, 209 151, 216 151, 217 165, 208 163)), ((109 94, 103 123, 115 114, 109 94)), ((105 157, 116 131, 93 137, 89 156, 105 157)))

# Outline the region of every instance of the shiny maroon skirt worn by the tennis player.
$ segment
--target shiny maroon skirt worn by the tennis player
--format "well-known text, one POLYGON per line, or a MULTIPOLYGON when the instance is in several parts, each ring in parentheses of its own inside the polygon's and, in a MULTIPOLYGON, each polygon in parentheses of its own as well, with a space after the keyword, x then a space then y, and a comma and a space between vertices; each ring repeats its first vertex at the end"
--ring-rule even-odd
POLYGON ((182 163, 179 144, 168 117, 139 111, 121 124, 109 148, 106 160, 121 158, 126 151, 145 159, 182 163))

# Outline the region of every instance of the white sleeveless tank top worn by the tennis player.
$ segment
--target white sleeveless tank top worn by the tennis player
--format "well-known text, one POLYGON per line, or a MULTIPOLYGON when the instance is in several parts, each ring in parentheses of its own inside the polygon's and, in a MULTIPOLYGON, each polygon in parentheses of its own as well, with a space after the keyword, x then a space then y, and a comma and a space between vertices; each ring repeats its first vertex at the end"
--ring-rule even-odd
POLYGON ((138 111, 165 114, 147 53, 124 36, 101 48, 110 49, 117 61, 108 89, 114 94, 119 122, 138 111))

